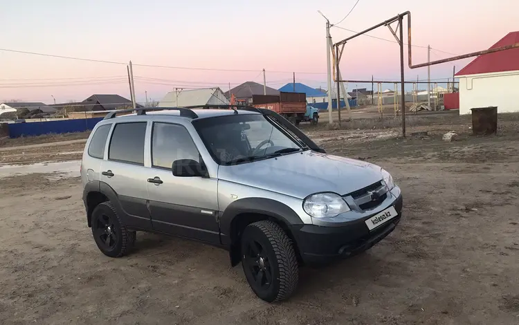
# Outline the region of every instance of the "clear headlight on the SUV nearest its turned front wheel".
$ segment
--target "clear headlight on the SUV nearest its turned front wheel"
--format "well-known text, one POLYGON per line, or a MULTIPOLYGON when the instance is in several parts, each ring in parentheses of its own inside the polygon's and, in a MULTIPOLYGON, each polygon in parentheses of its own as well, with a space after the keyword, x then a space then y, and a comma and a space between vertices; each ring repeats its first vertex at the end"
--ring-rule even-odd
POLYGON ((303 210, 314 218, 332 218, 343 212, 348 212, 350 209, 338 194, 318 193, 304 199, 303 210))

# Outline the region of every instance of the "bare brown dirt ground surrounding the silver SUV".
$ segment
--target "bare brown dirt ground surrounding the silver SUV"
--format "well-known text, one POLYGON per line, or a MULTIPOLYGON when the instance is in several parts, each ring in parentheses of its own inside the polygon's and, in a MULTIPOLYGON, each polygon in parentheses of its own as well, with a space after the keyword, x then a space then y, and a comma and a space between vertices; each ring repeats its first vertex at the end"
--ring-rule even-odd
POLYGON ((405 139, 388 125, 302 127, 331 154, 388 169, 403 219, 366 254, 302 268, 280 304, 196 242, 139 232, 128 257, 105 257, 78 178, 0 178, 0 324, 519 324, 519 118, 500 116, 488 137, 464 118, 410 120, 408 135, 428 136, 405 139), (459 140, 442 141, 450 130, 459 140))

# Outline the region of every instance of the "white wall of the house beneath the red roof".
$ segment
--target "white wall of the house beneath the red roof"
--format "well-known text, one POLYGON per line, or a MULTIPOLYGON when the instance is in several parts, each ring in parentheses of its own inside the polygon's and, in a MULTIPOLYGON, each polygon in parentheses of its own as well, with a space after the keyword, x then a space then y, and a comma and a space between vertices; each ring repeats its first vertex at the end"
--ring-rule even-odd
POLYGON ((459 76, 459 114, 498 106, 498 113, 518 112, 519 71, 459 76))

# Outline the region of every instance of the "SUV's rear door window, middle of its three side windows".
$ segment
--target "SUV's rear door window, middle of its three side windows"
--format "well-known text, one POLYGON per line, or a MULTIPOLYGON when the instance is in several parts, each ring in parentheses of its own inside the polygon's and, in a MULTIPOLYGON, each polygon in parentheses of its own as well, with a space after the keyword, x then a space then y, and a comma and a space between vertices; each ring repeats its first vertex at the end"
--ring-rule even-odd
POLYGON ((109 160, 144 165, 146 122, 118 123, 113 129, 109 160))

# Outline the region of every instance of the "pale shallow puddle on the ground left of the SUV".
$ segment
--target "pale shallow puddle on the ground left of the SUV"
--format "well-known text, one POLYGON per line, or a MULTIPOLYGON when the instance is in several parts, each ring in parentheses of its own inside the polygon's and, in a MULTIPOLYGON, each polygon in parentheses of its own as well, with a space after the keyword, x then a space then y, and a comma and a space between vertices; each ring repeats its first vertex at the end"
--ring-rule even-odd
POLYGON ((36 163, 33 165, 0 165, 0 178, 33 173, 49 174, 49 180, 80 176, 81 160, 60 163, 36 163))

